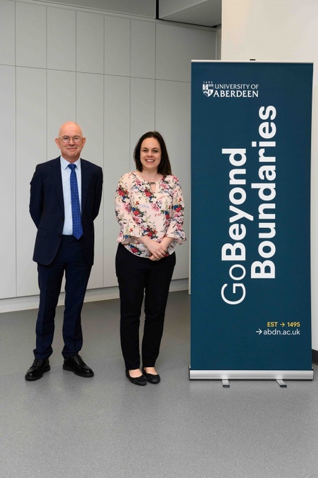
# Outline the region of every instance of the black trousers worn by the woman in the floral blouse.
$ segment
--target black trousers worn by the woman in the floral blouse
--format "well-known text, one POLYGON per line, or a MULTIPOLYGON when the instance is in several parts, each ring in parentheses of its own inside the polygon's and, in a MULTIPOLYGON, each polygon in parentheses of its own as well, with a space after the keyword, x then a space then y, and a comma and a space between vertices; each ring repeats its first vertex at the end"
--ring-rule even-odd
POLYGON ((135 256, 123 245, 118 245, 115 265, 120 289, 120 343, 126 369, 140 368, 139 327, 143 299, 142 365, 154 366, 159 355, 176 254, 153 261, 135 256))

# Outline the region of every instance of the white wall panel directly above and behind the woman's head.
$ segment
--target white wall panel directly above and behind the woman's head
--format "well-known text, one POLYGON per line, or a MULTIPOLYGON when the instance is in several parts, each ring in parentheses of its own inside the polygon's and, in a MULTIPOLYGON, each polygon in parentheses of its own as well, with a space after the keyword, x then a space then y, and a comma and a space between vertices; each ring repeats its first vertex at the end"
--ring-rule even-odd
POLYGON ((155 80, 131 78, 130 170, 135 169, 133 150, 142 134, 155 128, 155 80))

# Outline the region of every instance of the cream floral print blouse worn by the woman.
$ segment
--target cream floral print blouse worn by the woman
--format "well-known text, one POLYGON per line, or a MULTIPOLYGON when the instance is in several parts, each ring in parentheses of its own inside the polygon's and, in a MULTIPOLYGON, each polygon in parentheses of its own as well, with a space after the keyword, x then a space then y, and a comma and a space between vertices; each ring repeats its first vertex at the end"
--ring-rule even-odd
POLYGON ((136 238, 148 235, 161 242, 168 236, 174 238, 167 249, 167 254, 172 254, 176 244, 186 240, 183 210, 183 193, 176 176, 162 177, 153 192, 149 182, 138 177, 138 171, 127 172, 116 190, 115 213, 120 224, 117 242, 136 256, 148 258, 149 249, 136 238))

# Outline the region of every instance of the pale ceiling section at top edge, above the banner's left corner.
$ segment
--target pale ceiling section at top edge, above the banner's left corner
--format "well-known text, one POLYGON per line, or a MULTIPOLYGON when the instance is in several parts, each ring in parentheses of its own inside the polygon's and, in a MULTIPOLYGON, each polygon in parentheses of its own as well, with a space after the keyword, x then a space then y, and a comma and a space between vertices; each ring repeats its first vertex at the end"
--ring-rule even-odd
POLYGON ((162 20, 203 26, 222 23, 222 0, 158 0, 158 10, 162 20))

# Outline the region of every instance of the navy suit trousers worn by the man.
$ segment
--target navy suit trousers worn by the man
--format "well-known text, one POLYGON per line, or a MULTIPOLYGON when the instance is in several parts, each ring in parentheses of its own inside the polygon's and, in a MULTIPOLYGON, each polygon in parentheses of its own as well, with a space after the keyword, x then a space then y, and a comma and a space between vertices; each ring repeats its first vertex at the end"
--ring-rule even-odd
POLYGON ((63 321, 64 358, 77 354, 83 344, 81 312, 91 273, 84 254, 82 238, 62 236, 57 256, 50 265, 37 265, 39 276, 39 312, 36 324, 35 358, 45 359, 53 353, 55 308, 65 272, 65 308, 63 321))

